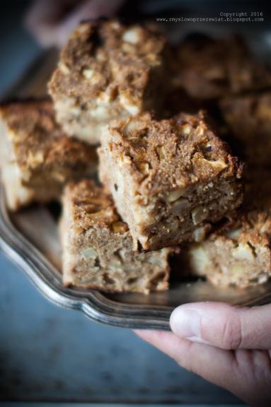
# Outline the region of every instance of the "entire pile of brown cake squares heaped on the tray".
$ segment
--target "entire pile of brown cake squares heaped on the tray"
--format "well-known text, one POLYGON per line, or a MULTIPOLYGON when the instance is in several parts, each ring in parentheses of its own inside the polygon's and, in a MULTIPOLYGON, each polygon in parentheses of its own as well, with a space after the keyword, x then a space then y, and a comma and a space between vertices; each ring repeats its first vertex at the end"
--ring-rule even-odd
POLYGON ((180 279, 267 281, 271 73, 239 37, 84 22, 48 90, 1 105, 1 178, 11 211, 61 202, 65 285, 166 290, 174 256, 180 279))

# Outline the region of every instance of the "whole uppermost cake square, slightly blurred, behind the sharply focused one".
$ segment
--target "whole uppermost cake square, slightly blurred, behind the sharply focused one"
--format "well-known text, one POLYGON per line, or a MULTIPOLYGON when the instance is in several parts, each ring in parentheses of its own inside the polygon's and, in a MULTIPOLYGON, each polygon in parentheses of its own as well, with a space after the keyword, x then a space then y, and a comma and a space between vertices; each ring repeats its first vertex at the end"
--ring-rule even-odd
POLYGON ((57 120, 91 144, 103 127, 163 101, 166 42, 141 25, 84 22, 71 34, 49 84, 57 120))

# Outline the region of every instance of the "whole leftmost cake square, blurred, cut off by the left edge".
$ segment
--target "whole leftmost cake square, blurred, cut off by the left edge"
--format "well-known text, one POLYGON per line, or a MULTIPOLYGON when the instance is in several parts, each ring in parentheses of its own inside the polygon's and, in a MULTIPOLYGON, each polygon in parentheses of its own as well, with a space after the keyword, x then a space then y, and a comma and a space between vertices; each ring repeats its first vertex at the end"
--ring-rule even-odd
POLYGON ((11 211, 59 199, 67 180, 96 169, 94 148, 64 134, 47 100, 1 105, 0 140, 1 179, 11 211))

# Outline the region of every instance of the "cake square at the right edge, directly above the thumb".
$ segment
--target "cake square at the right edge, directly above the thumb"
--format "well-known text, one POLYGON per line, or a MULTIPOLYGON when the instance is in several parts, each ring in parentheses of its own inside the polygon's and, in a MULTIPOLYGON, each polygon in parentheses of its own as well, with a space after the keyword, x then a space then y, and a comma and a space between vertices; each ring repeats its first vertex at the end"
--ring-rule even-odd
POLYGON ((271 173, 250 173, 240 211, 207 240, 181 251, 188 273, 214 285, 265 283, 271 276, 271 173))

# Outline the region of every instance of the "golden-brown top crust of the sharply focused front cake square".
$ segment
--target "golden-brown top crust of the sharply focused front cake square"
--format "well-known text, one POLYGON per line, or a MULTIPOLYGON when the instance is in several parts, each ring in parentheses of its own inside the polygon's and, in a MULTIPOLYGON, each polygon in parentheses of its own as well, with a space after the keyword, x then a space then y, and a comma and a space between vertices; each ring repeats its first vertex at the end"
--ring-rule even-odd
POLYGON ((214 135, 204 113, 157 122, 146 113, 111 124, 113 154, 131 163, 142 194, 221 178, 241 177, 229 146, 214 135), (114 145, 114 146, 113 146, 114 145))

